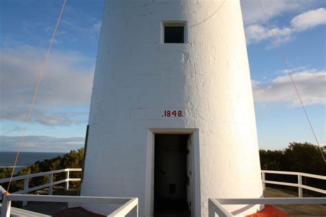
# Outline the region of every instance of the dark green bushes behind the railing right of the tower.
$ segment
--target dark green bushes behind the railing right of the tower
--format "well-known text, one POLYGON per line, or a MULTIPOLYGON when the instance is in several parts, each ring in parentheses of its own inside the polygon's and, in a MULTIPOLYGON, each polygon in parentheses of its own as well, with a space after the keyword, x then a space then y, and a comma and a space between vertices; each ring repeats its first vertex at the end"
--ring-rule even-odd
MULTIPOLYGON (((326 146, 321 147, 321 152, 325 155, 326 146)), ((304 172, 307 174, 326 175, 326 163, 323 160, 320 149, 317 145, 310 143, 290 143, 287 148, 281 150, 259 150, 261 169, 278 170, 290 172, 304 172)), ((298 183, 297 176, 266 174, 267 180, 282 181, 287 183, 298 183)), ((316 178, 303 178, 303 184, 312 187, 325 189, 325 180, 316 178)), ((270 185, 270 187, 281 187, 288 189, 297 189, 291 187, 282 187, 281 185, 270 185)), ((313 192, 309 192, 314 196, 313 192)))

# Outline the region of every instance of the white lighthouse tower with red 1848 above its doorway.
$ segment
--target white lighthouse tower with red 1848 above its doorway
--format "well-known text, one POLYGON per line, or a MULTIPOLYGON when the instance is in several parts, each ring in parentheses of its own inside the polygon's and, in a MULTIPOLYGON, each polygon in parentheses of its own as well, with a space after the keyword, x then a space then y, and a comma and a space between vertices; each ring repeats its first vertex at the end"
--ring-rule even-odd
POLYGON ((239 0, 105 1, 88 135, 83 196, 203 217, 208 198, 261 197, 239 0))

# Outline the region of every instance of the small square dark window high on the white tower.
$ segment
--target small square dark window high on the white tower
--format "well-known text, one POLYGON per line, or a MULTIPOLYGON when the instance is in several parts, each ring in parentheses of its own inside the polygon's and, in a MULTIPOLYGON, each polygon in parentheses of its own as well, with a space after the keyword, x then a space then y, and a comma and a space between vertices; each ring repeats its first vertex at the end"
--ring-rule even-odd
POLYGON ((164 22, 164 43, 184 43, 185 38, 184 22, 164 22))

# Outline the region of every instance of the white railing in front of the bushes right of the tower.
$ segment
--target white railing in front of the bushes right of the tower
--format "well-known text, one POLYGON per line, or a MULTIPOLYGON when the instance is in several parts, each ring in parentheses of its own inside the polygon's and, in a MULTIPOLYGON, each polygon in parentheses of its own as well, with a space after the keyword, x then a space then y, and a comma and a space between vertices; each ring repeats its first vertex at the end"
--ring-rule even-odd
POLYGON ((326 176, 320 176, 320 175, 314 175, 314 174, 305 174, 303 172, 285 172, 285 171, 261 170, 261 179, 262 179, 262 182, 263 182, 263 190, 265 190, 266 184, 273 184, 273 185, 286 185, 286 186, 298 187, 298 197, 299 198, 303 197, 302 189, 308 189, 308 190, 313 191, 313 192, 326 194, 326 190, 324 190, 324 189, 319 189, 319 188, 316 188, 316 187, 303 185, 302 177, 310 177, 310 178, 326 180, 326 176), (272 180, 266 180, 265 174, 283 174, 283 175, 298 176, 298 183, 284 183, 284 182, 276 182, 276 181, 272 181, 272 180))

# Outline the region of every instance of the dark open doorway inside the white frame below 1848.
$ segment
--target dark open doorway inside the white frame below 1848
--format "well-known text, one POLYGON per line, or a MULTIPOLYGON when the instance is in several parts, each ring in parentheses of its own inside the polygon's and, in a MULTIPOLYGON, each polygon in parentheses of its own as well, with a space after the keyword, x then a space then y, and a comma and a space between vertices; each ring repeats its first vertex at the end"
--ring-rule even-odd
POLYGON ((154 216, 191 216, 190 135, 155 134, 154 216))

